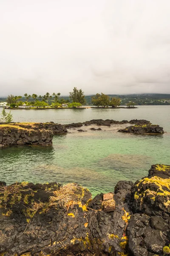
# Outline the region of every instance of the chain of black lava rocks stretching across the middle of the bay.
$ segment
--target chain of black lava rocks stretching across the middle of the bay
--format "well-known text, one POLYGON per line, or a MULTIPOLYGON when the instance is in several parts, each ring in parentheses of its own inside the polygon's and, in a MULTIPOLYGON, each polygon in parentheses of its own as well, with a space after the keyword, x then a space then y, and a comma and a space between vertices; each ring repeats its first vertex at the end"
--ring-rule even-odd
MULTIPOLYGON (((130 121, 122 120, 102 120, 93 119, 86 122, 71 123, 66 125, 55 124, 54 122, 47 123, 9 123, 0 124, 0 148, 12 145, 41 145, 51 146, 52 139, 55 134, 66 134, 68 129, 87 128, 90 125, 108 126, 133 124, 123 129, 119 129, 122 133, 133 133, 137 135, 144 134, 164 134, 164 130, 159 125, 153 125, 147 120, 133 119, 130 121)), ((91 131, 101 131, 101 128, 90 128, 91 131)), ((83 129, 79 132, 86 131, 83 129)))

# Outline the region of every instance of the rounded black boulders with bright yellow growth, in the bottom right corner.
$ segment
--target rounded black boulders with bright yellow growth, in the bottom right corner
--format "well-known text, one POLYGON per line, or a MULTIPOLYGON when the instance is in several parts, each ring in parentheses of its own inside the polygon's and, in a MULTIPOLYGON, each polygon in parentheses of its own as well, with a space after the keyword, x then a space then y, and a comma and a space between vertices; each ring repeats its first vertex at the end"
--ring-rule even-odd
POLYGON ((134 256, 170 254, 169 177, 170 166, 154 165, 148 177, 132 186, 133 215, 127 226, 127 236, 129 250, 134 256))

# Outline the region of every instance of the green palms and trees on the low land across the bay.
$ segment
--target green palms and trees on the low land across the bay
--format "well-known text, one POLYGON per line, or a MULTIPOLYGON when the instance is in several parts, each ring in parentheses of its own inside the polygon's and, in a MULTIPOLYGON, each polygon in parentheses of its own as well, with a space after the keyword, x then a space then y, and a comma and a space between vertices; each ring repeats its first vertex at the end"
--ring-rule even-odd
MULTIPOLYGON (((24 98, 22 96, 14 96, 8 95, 7 103, 11 108, 22 107, 23 105, 26 107, 35 107, 35 108, 45 108, 51 106, 53 108, 77 108, 82 105, 85 105, 86 99, 84 92, 82 89, 77 89, 74 87, 73 91, 69 93, 69 98, 60 98, 61 93, 46 93, 43 96, 38 96, 33 93, 29 95, 27 93, 24 94, 24 98)), ((96 107, 112 107, 117 108, 121 104, 121 99, 118 97, 110 97, 104 93, 96 93, 96 95, 91 96, 91 104, 96 107)), ((134 102, 128 102, 127 107, 134 106, 134 102)))

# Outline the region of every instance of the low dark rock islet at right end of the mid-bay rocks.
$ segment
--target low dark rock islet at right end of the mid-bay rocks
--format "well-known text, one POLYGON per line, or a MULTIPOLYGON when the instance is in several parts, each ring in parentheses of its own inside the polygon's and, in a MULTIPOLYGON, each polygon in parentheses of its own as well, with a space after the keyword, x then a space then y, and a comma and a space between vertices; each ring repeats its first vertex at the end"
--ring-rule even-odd
POLYGON ((118 130, 123 133, 133 133, 133 134, 164 134, 164 130, 159 125, 133 125, 128 126, 124 129, 118 130))

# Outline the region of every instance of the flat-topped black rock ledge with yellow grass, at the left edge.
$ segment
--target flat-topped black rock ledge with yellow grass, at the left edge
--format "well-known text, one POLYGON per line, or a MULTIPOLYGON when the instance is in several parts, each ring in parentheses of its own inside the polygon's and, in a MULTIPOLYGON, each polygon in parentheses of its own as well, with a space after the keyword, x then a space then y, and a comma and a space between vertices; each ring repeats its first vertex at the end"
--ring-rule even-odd
POLYGON ((54 134, 65 134, 67 129, 54 122, 0 124, 0 147, 10 145, 51 146, 54 134))

